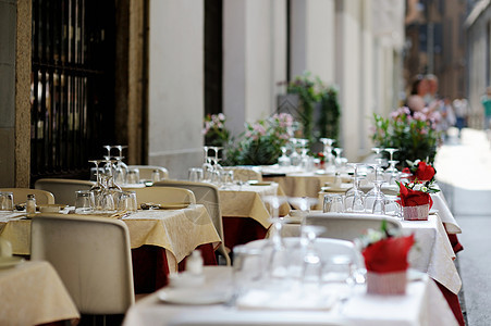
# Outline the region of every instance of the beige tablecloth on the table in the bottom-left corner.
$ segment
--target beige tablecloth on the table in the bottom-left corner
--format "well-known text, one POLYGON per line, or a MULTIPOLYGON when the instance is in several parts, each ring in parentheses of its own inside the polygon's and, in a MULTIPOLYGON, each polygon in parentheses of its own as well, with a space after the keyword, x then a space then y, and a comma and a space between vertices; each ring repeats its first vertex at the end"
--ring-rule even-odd
POLYGON ((77 319, 78 311, 48 262, 0 268, 0 325, 39 325, 77 319))

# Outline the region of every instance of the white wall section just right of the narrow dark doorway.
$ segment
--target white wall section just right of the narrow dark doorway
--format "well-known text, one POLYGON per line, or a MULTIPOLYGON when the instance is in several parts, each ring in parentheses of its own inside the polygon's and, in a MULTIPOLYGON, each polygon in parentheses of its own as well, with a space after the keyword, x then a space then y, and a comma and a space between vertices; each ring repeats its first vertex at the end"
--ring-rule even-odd
POLYGON ((275 110, 286 79, 285 0, 223 1, 223 113, 237 135, 275 110))

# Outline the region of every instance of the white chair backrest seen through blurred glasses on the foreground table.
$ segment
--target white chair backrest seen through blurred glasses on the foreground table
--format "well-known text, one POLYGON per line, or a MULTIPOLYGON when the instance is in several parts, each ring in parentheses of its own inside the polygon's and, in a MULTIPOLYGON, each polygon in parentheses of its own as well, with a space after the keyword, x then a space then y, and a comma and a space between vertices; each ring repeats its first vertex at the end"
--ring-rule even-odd
MULTIPOLYGON (((267 242, 271 241, 270 239, 260 239, 250 241, 245 244, 246 248, 250 249, 260 249, 268 250, 266 247, 267 242)), ((289 251, 293 251, 295 248, 300 247, 300 238, 292 237, 292 238, 283 238, 283 243, 287 248, 289 251)), ((319 252, 320 259, 323 262, 328 262, 329 260, 335 256, 347 256, 352 263, 356 266, 363 267, 363 258, 359 252, 356 250, 355 246, 351 241, 341 240, 341 239, 330 239, 330 238, 318 238, 315 241, 315 247, 319 252)), ((270 248, 271 250, 272 248, 270 248)), ((268 253, 263 252, 266 256, 268 253)))

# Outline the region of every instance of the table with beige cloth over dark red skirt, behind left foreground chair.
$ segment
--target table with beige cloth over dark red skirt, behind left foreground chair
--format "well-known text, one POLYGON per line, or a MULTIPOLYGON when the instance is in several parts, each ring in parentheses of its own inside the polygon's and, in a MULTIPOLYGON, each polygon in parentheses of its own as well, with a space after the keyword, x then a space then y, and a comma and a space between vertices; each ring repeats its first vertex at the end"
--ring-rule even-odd
MULTIPOLYGON (((179 264, 198 247, 206 264, 217 264, 213 249, 221 241, 220 236, 201 204, 137 211, 122 221, 130 230, 137 293, 164 286, 168 274, 182 269, 183 264, 179 264)), ((0 236, 12 243, 14 254, 30 254, 30 220, 25 220, 25 213, 0 214, 0 236)))

